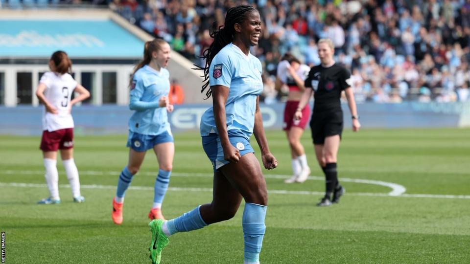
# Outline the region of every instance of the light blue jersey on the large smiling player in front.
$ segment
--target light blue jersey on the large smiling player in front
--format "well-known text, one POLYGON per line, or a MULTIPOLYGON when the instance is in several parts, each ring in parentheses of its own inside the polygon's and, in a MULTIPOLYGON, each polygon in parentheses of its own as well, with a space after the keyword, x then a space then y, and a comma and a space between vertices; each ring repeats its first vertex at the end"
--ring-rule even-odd
MULTIPOLYGON (((223 47, 213 58, 209 69, 209 85, 230 89, 225 105, 227 131, 243 134, 247 139, 255 125, 256 98, 263 91, 262 66, 251 53, 246 56, 233 43, 223 47)), ((201 136, 217 133, 213 107, 201 118, 201 136)))

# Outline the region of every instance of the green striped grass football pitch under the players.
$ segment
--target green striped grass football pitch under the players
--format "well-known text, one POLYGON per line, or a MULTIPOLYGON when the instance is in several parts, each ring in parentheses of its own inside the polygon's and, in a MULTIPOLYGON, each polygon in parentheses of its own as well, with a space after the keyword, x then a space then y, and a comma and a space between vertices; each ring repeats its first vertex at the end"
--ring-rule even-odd
MULTIPOLYGON (((261 263, 470 263, 470 130, 345 130, 338 167, 347 193, 328 208, 315 207, 324 182, 309 133, 303 143, 312 176, 320 178, 284 184, 291 172, 287 141, 282 132, 267 132, 279 167, 263 169, 271 193, 261 263), (406 192, 388 196, 390 187, 356 179, 395 183, 406 192)), ((155 155, 147 153, 126 193, 124 222, 116 226, 111 201, 127 163, 126 135, 76 136, 83 204, 72 203, 60 161, 62 203, 36 204, 48 195, 39 141, 0 136, 6 263, 150 263, 155 155)), ((175 134, 175 145, 167 219, 211 201, 211 163, 198 133, 175 134)), ((172 236, 162 264, 243 263, 242 213, 243 204, 232 220, 172 236)))

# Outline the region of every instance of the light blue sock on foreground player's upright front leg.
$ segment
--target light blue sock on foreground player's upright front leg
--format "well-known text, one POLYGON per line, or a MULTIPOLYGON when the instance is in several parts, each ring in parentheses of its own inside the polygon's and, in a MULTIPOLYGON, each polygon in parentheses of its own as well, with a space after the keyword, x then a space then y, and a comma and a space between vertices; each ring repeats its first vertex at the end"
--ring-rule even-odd
POLYGON ((267 207, 256 203, 245 203, 243 210, 243 239, 245 240, 245 261, 257 263, 259 261, 259 252, 263 244, 266 225, 267 207))

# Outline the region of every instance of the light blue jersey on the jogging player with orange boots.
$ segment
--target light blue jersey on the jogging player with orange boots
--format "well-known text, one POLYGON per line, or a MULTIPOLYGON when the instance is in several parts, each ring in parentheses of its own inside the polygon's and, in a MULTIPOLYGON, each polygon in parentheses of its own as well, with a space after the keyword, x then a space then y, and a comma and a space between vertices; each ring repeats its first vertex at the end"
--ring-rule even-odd
POLYGON ((166 108, 158 107, 160 97, 168 96, 170 91, 169 76, 167 69, 161 68, 157 71, 148 65, 136 71, 131 85, 129 107, 138 110, 129 120, 130 131, 145 135, 170 131, 166 108), (137 108, 136 105, 144 106, 137 108))

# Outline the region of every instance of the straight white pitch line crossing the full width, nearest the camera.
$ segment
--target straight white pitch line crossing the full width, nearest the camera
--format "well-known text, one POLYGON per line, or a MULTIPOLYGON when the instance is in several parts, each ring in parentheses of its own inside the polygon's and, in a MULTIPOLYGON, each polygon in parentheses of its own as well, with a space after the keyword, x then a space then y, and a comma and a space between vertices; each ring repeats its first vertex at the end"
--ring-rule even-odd
MULTIPOLYGON (((4 187, 24 187, 24 188, 47 188, 46 184, 42 183, 22 183, 22 182, 0 182, 0 186, 4 187)), ((70 188, 69 184, 60 184, 61 188, 70 188)), ((82 189, 110 189, 116 190, 115 185, 81 185, 82 189)), ((153 187, 145 186, 129 186, 129 190, 140 191, 153 191, 153 187)), ((168 187, 168 191, 179 192, 212 192, 212 188, 182 188, 182 187, 168 187)), ((287 191, 287 190, 268 190, 270 194, 280 195, 324 195, 324 192, 309 192, 309 191, 287 191)), ((348 196, 375 196, 375 197, 391 197, 388 194, 380 193, 347 193, 348 196)), ((446 199, 470 199, 470 195, 430 195, 430 194, 403 194, 401 196, 392 197, 409 197, 409 198, 446 198, 446 199)))

